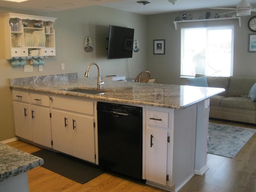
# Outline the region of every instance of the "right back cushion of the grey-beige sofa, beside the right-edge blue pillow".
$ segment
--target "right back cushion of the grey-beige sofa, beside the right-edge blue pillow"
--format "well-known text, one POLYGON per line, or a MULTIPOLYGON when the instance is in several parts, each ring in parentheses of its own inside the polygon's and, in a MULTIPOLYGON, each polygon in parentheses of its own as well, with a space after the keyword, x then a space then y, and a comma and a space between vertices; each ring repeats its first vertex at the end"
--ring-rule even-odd
POLYGON ((246 97, 255 82, 256 77, 231 76, 229 80, 228 97, 246 97))

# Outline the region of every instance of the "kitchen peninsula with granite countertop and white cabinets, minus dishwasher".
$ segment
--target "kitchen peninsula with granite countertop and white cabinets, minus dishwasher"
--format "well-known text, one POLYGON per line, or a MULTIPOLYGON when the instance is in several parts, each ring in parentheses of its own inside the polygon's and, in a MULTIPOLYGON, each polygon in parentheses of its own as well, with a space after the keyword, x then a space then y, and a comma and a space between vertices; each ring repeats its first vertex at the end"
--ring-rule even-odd
POLYGON ((102 85, 102 93, 87 94, 70 90, 97 90, 97 80, 78 78, 76 73, 10 79, 10 87, 14 108, 17 109, 14 110, 14 120, 21 118, 16 114, 18 109, 22 110, 25 118, 32 116, 26 126, 30 128, 24 136, 19 135, 24 131, 20 132, 22 127, 18 128, 15 123, 16 135, 24 140, 98 164, 97 102, 140 106, 143 109, 142 178, 147 184, 178 191, 194 174, 202 175, 208 169, 209 98, 224 92, 222 88, 106 80, 102 85), (36 110, 51 113, 51 119, 44 118, 43 123, 48 123, 43 131, 38 130, 40 126, 34 126, 36 110), (76 121, 74 126, 76 117, 85 120, 83 124, 86 124, 86 129, 91 129, 86 135, 90 137, 75 138, 82 134, 72 133, 72 138, 67 141, 69 146, 61 143, 60 140, 66 136, 58 138, 63 133, 58 130, 59 120, 55 118, 62 118, 62 114, 65 114, 65 127, 68 116, 73 118, 72 130, 77 131, 79 127, 76 121), (45 139, 40 140, 44 136, 45 139), (90 148, 85 149, 81 141, 88 142, 85 146, 90 148), (86 151, 85 154, 78 151, 81 147, 86 151))

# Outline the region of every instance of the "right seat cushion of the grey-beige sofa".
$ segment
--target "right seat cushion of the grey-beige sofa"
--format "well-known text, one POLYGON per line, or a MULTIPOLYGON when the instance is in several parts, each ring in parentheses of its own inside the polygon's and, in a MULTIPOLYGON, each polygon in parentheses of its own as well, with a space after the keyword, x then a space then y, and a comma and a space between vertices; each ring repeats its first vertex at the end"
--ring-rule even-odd
POLYGON ((256 102, 250 98, 243 97, 226 97, 220 101, 221 107, 256 110, 256 102))

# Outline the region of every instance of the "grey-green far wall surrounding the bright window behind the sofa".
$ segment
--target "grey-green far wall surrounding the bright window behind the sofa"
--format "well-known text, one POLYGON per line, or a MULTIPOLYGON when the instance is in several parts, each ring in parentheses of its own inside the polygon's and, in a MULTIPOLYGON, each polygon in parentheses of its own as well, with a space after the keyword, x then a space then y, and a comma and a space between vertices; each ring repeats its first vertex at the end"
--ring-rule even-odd
MULTIPOLYGON (((192 14, 194 19, 205 17, 206 12, 220 14, 223 10, 201 10, 186 12, 187 17, 192 14)), ((176 16, 182 18, 183 12, 158 14, 147 16, 147 70, 157 83, 164 84, 187 84, 186 79, 180 78, 180 28, 202 26, 204 22, 178 23, 175 30, 173 21, 176 16), (165 55, 153 54, 153 40, 165 39, 165 55)), ((210 22, 214 25, 234 25, 234 76, 256 76, 256 52, 248 52, 248 34, 253 34, 247 23, 250 17, 242 17, 242 25, 239 27, 238 20, 219 20, 210 22)), ((232 17, 232 14, 228 14, 232 17)), ((255 33, 254 33, 255 34, 255 33)))

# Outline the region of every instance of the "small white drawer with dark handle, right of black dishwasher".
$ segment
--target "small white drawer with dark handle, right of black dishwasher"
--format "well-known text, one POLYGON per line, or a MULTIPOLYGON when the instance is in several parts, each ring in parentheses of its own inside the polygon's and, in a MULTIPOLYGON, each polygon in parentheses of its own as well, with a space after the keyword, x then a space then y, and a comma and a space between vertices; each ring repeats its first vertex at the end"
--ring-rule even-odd
POLYGON ((161 111, 146 111, 146 122, 148 125, 168 128, 168 112, 161 111))

